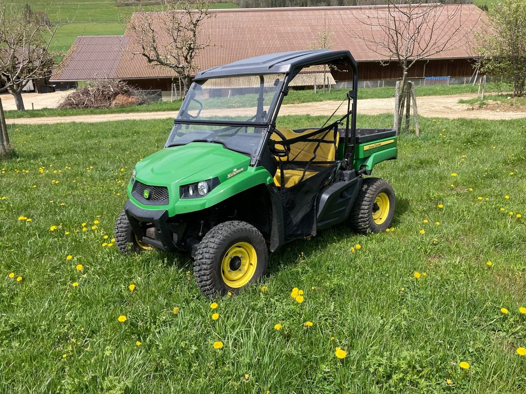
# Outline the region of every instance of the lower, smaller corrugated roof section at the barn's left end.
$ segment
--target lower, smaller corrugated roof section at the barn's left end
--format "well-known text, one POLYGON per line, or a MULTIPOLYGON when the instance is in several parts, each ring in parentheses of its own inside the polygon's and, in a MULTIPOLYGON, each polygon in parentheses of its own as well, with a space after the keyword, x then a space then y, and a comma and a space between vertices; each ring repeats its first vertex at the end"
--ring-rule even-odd
POLYGON ((116 78, 117 66, 128 43, 124 36, 80 36, 53 72, 52 81, 116 78))

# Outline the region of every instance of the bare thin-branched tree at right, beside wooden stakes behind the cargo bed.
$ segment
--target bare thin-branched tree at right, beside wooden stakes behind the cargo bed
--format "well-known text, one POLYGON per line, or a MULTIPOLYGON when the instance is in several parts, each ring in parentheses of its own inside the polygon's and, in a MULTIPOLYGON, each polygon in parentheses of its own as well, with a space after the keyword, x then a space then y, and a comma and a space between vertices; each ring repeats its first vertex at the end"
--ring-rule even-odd
POLYGON ((469 42, 470 31, 464 27, 466 15, 461 4, 428 3, 427 0, 404 4, 404 0, 387 0, 386 5, 371 7, 365 13, 362 23, 370 26, 371 34, 360 38, 370 50, 400 65, 398 108, 401 110, 407 94, 408 70, 419 60, 469 42))

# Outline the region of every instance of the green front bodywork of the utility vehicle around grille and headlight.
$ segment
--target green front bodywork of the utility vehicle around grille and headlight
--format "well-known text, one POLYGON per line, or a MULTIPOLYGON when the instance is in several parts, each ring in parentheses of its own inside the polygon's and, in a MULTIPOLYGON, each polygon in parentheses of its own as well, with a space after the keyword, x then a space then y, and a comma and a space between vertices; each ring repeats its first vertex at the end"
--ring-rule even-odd
POLYGON ((128 198, 145 210, 167 210, 170 216, 209 208, 232 195, 259 184, 274 182, 264 167, 249 167, 247 155, 225 149, 220 144, 193 142, 185 146, 165 148, 136 165, 136 181, 149 186, 166 186, 168 205, 149 205, 137 201, 128 184, 128 198), (180 186, 219 179, 207 195, 180 198, 180 186))

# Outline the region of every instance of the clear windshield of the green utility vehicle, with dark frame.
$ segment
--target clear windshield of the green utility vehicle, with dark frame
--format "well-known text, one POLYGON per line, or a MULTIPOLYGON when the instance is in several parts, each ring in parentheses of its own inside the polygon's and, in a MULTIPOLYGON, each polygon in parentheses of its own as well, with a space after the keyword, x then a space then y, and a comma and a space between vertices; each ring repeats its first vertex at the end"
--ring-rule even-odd
POLYGON ((194 82, 166 146, 216 142, 253 156, 268 127, 284 77, 267 74, 194 82))

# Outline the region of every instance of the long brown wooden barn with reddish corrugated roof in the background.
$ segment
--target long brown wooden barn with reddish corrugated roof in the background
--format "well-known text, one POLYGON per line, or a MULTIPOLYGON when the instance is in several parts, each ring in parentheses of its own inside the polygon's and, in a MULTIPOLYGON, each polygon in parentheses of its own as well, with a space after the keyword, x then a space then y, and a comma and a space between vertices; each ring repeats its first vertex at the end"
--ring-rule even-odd
MULTIPOLYGON (((442 7, 445 11, 437 14, 439 20, 435 21, 440 31, 422 32, 419 36, 422 43, 417 45, 423 45, 430 37, 438 40, 451 38, 450 43, 454 45, 419 60, 410 68, 408 76, 413 79, 446 77, 448 80, 467 82, 473 75, 473 63, 477 56, 472 50, 472 30, 487 18, 473 4, 442 7), (455 16, 451 17, 453 8, 446 7, 460 8, 456 8, 455 16)), ((375 36, 381 34, 380 27, 375 23, 388 19, 387 6, 214 9, 209 13, 211 17, 205 20, 199 39, 210 43, 210 46, 198 52, 197 70, 252 56, 321 48, 320 35, 325 33, 328 37, 325 47, 350 50, 356 58, 361 85, 392 84, 401 77, 398 63, 372 43, 375 36)), ((151 15, 154 21, 160 19, 159 13, 151 15)), ((132 16, 136 17, 137 14, 132 16)), ((160 22, 154 22, 154 27, 160 30, 159 25, 160 22)), ((161 42, 163 39, 166 40, 166 37, 159 34, 158 40, 161 42)), ((170 91, 177 80, 174 71, 153 66, 147 63, 145 57, 134 55, 137 45, 130 29, 126 29, 124 36, 78 37, 52 76, 52 81, 109 77, 125 80, 143 89, 170 91)), ((334 75, 334 78, 337 82, 338 76, 334 75)))

